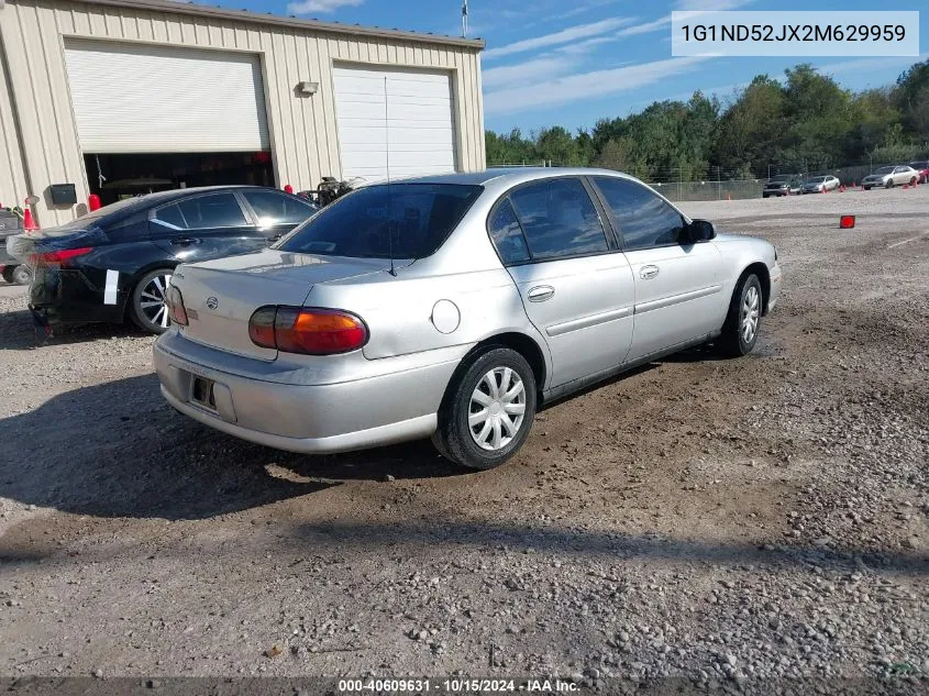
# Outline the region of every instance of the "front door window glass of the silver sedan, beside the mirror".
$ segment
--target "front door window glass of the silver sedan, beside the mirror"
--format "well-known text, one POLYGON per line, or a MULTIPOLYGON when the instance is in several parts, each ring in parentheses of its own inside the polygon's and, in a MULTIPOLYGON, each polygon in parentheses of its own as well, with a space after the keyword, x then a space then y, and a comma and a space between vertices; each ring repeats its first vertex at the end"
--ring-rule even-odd
POLYGON ((626 251, 679 244, 684 218, 641 184, 618 177, 594 177, 619 223, 626 251))

